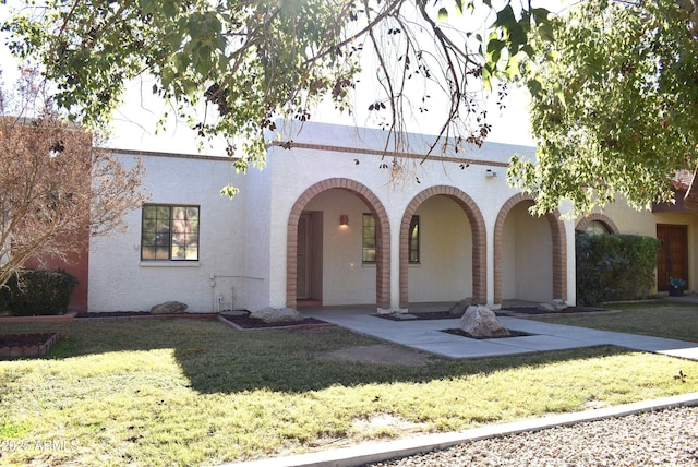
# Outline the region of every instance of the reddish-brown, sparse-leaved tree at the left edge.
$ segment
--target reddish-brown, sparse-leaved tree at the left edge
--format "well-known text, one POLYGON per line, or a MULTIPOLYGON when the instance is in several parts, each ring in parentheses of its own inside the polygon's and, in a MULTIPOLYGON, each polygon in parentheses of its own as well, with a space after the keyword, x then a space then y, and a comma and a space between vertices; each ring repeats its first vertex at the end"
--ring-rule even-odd
POLYGON ((29 258, 65 259, 86 234, 119 228, 144 201, 143 167, 93 149, 92 133, 41 94, 31 72, 14 95, 0 86, 0 287, 29 258))

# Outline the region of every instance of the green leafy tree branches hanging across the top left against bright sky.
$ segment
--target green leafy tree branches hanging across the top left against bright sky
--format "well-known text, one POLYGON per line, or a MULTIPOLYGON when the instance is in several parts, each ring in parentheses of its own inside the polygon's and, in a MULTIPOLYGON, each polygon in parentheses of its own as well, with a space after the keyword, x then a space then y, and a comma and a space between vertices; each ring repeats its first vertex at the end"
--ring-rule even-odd
POLYGON ((305 121, 327 98, 351 111, 362 69, 374 85, 361 93, 385 115, 394 151, 408 149, 407 124, 431 103, 440 136, 480 145, 490 132, 483 85, 514 69, 529 31, 546 22, 530 2, 517 15, 491 0, 53 0, 27 1, 2 28, 71 117, 107 122, 124 82, 147 73, 203 139, 227 139, 243 171, 264 165, 278 117, 305 121), (458 15, 458 27, 446 21, 458 15))

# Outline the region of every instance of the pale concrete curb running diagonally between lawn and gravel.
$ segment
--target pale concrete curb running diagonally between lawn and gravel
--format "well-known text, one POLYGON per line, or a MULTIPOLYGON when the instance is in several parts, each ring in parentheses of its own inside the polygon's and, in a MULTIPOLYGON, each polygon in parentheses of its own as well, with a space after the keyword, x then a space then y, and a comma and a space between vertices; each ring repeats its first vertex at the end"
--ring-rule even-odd
POLYGON ((554 427, 564 427, 586 421, 606 418, 625 417, 646 411, 661 410, 681 406, 697 406, 698 393, 682 394, 661 399, 643 400, 634 404, 585 410, 574 414, 562 414, 512 423, 492 424, 452 433, 428 434, 423 436, 395 440, 385 443, 366 443, 352 447, 299 454, 286 457, 252 460, 246 463, 226 464, 220 467, 352 467, 368 463, 377 463, 394 457, 406 457, 414 454, 443 450, 470 441, 506 436, 530 431, 540 431, 554 427))

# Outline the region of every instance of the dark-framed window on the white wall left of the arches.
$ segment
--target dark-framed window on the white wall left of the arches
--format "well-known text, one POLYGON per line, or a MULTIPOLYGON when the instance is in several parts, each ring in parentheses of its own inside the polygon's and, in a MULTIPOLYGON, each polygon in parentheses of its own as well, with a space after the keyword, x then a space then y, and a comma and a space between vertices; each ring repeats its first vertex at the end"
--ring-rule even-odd
POLYGON ((144 205, 141 260, 198 260, 198 206, 144 205))

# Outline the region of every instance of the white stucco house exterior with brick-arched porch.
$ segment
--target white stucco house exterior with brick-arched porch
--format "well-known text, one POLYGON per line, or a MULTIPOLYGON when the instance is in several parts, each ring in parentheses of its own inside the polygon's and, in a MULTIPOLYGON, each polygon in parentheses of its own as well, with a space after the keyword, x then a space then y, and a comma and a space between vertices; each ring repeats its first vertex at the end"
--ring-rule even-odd
POLYGON ((297 258, 302 213, 314 232, 309 267, 320 276, 308 298, 323 304, 396 311, 479 294, 493 308, 515 298, 575 302, 575 223, 531 217, 527 199, 514 203, 521 194, 506 183, 509 158, 532 155, 532 147, 485 143, 422 160, 432 141, 410 135, 411 148, 394 159, 389 151, 383 156, 389 145, 380 130, 279 128, 278 141, 292 142, 291 148, 272 145, 267 167, 244 176, 226 158, 115 151, 127 163, 143 160, 152 203, 200 206, 200 256, 141 261, 141 212, 131 213, 124 232, 91 243, 89 311, 147 310, 166 300, 216 311, 219 303, 229 307, 230 297, 236 309, 296 304, 288 292, 300 270, 289 259, 297 258), (219 189, 231 178, 240 193, 228 200, 219 189), (420 218, 420 262, 405 271, 400 231, 408 209, 420 218), (377 223, 389 250, 382 256, 385 287, 383 263, 362 262, 362 216, 373 211, 384 217, 377 223), (339 227, 341 215, 346 227, 339 227))

